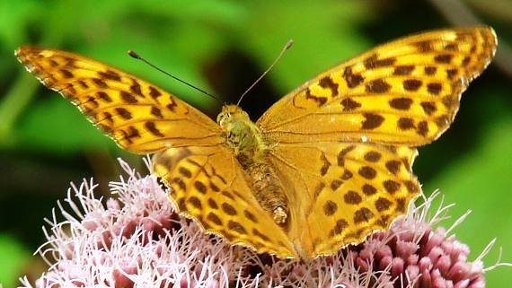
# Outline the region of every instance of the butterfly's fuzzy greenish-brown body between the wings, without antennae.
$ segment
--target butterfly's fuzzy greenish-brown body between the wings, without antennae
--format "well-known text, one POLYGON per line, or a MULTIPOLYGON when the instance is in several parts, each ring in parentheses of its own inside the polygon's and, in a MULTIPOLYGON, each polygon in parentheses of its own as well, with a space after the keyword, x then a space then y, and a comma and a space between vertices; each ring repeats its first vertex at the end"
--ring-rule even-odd
POLYGON ((278 224, 287 220, 287 199, 280 180, 269 164, 268 147, 264 143, 260 128, 249 115, 236 105, 225 105, 217 116, 227 144, 242 165, 252 191, 260 205, 272 214, 278 224))

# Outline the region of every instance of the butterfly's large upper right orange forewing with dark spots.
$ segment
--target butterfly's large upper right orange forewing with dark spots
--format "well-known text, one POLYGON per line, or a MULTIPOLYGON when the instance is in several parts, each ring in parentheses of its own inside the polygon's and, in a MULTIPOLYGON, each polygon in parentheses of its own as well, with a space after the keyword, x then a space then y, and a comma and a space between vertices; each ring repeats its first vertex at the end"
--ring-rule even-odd
POLYGON ((452 123, 462 92, 496 45, 490 28, 398 39, 313 78, 257 124, 276 143, 428 144, 452 123))

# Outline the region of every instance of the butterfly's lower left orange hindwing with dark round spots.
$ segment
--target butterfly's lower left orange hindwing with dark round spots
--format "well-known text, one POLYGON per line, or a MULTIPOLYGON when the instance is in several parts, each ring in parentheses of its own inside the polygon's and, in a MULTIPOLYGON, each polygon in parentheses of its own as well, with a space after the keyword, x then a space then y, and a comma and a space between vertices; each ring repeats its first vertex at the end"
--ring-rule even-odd
POLYGON ((154 154, 153 170, 171 188, 180 213, 196 219, 208 233, 260 253, 297 256, 287 235, 261 208, 227 148, 170 148, 154 154))

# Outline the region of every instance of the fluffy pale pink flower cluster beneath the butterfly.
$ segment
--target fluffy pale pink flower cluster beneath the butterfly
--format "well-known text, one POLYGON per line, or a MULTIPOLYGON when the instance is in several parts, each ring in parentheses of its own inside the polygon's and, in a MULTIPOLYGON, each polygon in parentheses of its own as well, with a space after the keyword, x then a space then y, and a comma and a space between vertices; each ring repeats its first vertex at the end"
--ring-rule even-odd
POLYGON ((49 269, 22 287, 345 287, 481 288, 481 257, 434 229, 447 207, 427 214, 433 197, 410 208, 389 231, 311 263, 256 255, 205 235, 174 213, 154 176, 140 177, 123 161, 128 179, 110 183, 112 197, 96 199, 93 181, 68 190, 39 249, 49 269))

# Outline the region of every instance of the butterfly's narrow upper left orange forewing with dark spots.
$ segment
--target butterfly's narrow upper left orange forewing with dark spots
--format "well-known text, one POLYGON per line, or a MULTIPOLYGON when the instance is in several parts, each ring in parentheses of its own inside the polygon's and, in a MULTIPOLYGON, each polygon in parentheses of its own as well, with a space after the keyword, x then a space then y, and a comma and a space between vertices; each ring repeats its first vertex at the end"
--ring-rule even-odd
POLYGON ((73 53, 22 47, 16 57, 60 92, 96 127, 132 153, 220 143, 216 123, 168 92, 109 65, 73 53))

